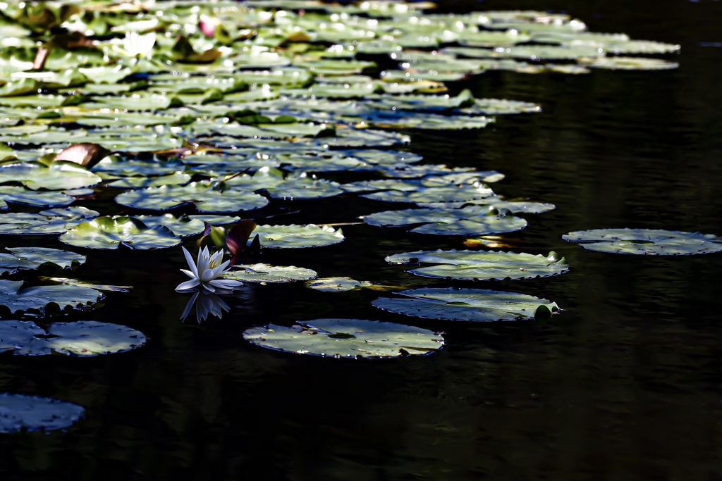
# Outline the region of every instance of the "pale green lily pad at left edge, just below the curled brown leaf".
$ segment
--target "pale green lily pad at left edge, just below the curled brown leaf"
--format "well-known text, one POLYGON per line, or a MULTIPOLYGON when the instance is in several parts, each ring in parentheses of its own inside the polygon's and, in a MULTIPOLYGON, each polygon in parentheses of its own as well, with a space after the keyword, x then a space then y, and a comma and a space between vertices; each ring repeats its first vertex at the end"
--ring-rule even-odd
POLYGON ((3 164, 0 169, 0 183, 21 182, 32 190, 77 189, 96 185, 101 180, 89 170, 72 162, 53 162, 50 167, 39 162, 13 162, 3 164))

